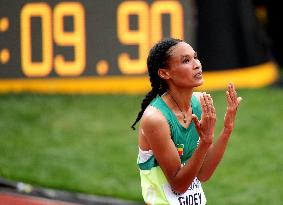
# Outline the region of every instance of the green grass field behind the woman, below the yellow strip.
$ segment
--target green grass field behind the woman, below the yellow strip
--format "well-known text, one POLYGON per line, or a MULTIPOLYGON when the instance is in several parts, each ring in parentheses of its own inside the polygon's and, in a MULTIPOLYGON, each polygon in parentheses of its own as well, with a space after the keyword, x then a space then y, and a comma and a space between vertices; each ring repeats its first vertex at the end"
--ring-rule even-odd
MULTIPOLYGON (((212 205, 283 201, 283 90, 243 97, 225 157, 204 189, 212 205)), ((224 92, 213 92, 217 133, 224 92)), ((33 185, 142 200, 137 131, 143 96, 0 95, 0 176, 33 185)), ((217 136, 217 134, 216 134, 217 136)))

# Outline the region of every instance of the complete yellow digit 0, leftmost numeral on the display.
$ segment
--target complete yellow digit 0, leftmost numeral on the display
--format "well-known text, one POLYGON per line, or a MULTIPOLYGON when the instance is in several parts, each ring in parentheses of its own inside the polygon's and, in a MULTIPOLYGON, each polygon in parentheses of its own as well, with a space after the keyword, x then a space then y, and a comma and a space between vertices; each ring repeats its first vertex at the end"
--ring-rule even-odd
POLYGON ((29 3, 21 11, 21 62, 25 75, 44 77, 52 70, 51 9, 46 3, 29 3), (31 18, 42 22, 42 62, 32 62, 31 18))

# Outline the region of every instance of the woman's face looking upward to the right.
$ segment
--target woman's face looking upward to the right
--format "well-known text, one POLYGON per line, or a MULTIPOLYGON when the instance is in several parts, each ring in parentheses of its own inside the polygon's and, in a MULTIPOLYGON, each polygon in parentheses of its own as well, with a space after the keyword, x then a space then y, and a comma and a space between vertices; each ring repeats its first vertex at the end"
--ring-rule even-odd
POLYGON ((168 60, 169 83, 183 88, 202 85, 202 67, 194 49, 185 42, 180 42, 171 49, 168 60))

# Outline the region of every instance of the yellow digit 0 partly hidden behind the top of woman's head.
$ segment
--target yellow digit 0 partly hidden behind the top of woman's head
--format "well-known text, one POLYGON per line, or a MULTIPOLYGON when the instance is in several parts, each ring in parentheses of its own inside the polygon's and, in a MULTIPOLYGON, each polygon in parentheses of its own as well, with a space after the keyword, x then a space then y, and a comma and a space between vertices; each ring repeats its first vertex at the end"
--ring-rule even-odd
POLYGON ((151 7, 151 42, 162 39, 162 14, 171 17, 171 37, 184 38, 183 8, 178 1, 155 1, 151 7))

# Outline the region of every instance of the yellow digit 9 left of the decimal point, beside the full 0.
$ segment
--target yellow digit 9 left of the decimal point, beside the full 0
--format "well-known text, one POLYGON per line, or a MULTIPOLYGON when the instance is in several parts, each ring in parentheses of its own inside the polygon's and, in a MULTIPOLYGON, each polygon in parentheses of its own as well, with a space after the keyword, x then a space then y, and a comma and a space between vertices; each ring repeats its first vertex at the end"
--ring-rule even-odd
POLYGON ((66 61, 59 54, 54 59, 56 73, 61 76, 80 75, 86 64, 85 51, 85 14, 83 6, 78 2, 59 3, 54 9, 54 40, 60 46, 74 47, 74 60, 66 61), (64 17, 74 18, 73 31, 64 30, 64 17))

